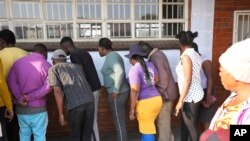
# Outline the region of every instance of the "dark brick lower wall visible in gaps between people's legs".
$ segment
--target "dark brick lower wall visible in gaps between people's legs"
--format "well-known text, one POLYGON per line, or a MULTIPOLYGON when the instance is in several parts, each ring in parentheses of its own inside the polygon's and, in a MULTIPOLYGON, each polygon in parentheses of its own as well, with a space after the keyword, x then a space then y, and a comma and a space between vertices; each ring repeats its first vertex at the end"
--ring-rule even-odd
MULTIPOLYGON (((59 125, 58 112, 53 93, 48 95, 47 100, 48 100, 47 103, 48 103, 48 115, 49 115, 49 125, 48 125, 47 135, 48 136, 68 135, 70 131, 69 127, 68 126, 61 127, 59 125)), ((139 132, 137 120, 130 121, 128 115, 129 115, 129 99, 127 103, 127 113, 126 113, 127 130, 139 132)), ((177 127, 178 123, 179 120, 176 117, 172 116, 172 126, 177 127)), ((98 126, 101 134, 107 132, 113 132, 113 133, 115 132, 112 115, 109 110, 107 92, 104 87, 101 89, 101 94, 99 97, 98 126)))

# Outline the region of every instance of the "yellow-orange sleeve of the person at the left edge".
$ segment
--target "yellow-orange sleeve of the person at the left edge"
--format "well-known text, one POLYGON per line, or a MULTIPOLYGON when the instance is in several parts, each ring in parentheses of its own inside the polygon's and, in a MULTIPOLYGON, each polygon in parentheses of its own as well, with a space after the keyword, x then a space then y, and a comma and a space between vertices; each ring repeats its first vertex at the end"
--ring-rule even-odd
POLYGON ((13 110, 10 91, 6 84, 3 70, 2 70, 2 62, 0 60, 0 97, 3 99, 4 105, 7 107, 8 110, 13 110))

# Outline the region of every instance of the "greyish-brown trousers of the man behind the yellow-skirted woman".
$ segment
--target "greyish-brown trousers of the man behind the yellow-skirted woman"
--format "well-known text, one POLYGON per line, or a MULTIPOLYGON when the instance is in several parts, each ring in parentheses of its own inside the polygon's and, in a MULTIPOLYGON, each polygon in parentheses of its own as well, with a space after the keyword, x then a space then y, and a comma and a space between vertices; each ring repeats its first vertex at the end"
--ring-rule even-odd
POLYGON ((161 111, 157 118, 157 141, 174 141, 174 135, 171 130, 171 113, 173 109, 172 101, 163 101, 161 111))

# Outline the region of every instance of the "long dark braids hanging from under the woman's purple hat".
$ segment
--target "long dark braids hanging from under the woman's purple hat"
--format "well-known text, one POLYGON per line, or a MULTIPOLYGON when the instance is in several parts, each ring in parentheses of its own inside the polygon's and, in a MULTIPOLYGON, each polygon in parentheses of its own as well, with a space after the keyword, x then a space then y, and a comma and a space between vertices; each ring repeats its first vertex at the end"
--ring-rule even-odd
POLYGON ((142 57, 142 56, 139 56, 139 55, 133 55, 131 59, 137 60, 137 61, 140 63, 140 65, 141 65, 141 67, 142 67, 142 70, 143 70, 143 72, 144 72, 145 75, 146 75, 146 83, 147 83, 148 85, 152 85, 151 77, 150 77, 150 74, 149 74, 147 65, 146 65, 146 63, 145 63, 143 57, 142 57))

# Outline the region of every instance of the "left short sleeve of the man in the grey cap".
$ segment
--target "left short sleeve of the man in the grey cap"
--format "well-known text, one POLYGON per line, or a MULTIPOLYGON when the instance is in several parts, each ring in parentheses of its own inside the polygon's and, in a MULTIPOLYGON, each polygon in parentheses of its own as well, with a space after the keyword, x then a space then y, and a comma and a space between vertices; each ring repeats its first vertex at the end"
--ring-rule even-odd
POLYGON ((59 79, 59 76, 55 70, 55 67, 51 67, 48 72, 48 78, 49 78, 49 86, 54 87, 54 86, 62 86, 62 83, 59 79))

